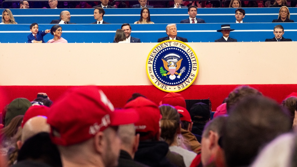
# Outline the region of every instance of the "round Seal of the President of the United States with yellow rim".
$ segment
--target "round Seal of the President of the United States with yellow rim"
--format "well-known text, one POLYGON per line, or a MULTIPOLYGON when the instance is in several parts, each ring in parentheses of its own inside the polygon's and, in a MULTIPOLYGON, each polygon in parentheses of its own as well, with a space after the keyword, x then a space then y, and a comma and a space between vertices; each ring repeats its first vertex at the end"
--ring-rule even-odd
POLYGON ((178 40, 160 42, 150 51, 146 63, 150 81, 165 92, 179 92, 188 88, 198 74, 195 52, 178 40))

